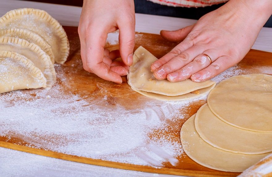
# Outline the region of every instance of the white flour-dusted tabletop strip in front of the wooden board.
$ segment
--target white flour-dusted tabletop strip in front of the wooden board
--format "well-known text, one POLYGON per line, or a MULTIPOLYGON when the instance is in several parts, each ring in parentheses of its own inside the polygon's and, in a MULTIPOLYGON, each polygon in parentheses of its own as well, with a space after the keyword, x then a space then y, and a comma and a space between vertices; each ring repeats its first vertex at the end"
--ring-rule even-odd
POLYGON ((122 170, 100 167, 84 163, 76 163, 57 158, 29 154, 0 147, 0 173, 3 177, 174 177, 156 173, 122 170))

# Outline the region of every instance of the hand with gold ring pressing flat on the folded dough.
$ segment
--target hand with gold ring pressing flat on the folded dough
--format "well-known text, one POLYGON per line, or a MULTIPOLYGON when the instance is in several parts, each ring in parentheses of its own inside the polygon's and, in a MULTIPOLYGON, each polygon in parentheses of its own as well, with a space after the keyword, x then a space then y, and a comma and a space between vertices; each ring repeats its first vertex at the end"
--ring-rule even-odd
POLYGON ((230 0, 194 25, 161 31, 163 38, 182 42, 151 65, 154 76, 171 82, 188 78, 202 82, 237 64, 270 17, 271 2, 230 0))

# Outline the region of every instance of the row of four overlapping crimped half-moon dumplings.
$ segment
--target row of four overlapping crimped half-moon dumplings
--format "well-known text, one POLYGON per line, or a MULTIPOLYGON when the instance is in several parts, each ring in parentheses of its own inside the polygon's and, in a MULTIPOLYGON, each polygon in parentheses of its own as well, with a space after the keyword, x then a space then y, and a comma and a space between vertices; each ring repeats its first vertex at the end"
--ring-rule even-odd
POLYGON ((0 94, 19 89, 51 88, 55 61, 69 55, 63 27, 47 12, 23 8, 0 18, 0 94))

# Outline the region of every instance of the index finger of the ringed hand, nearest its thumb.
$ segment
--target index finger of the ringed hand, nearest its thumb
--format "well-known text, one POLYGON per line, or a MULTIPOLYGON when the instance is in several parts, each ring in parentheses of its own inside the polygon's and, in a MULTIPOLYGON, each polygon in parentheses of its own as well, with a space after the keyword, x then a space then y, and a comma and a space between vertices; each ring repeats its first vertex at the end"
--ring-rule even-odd
POLYGON ((185 51, 189 47, 193 46, 193 42, 191 40, 182 41, 176 47, 174 47, 169 53, 161 57, 159 60, 155 61, 151 64, 151 71, 155 71, 160 68, 162 65, 166 64, 172 58, 181 54, 181 52, 185 51))

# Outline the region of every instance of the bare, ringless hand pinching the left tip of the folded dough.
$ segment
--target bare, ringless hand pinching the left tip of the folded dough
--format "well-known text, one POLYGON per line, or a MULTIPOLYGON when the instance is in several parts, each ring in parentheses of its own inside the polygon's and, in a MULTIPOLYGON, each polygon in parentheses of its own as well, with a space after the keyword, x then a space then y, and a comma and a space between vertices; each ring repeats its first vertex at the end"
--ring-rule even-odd
POLYGON ((134 1, 84 0, 78 32, 83 68, 105 80, 122 83, 121 76, 128 73, 125 65, 133 64, 134 1), (120 56, 125 64, 109 60, 115 59, 117 51, 104 50, 108 33, 117 29, 120 56))

